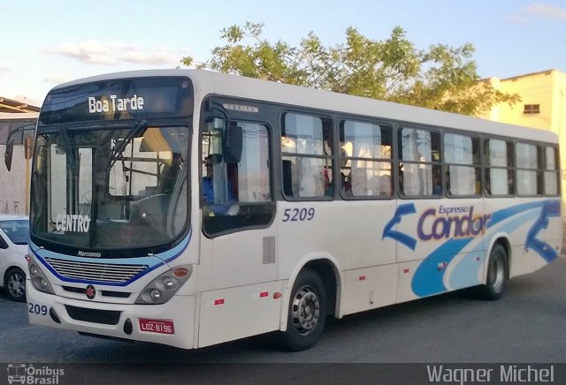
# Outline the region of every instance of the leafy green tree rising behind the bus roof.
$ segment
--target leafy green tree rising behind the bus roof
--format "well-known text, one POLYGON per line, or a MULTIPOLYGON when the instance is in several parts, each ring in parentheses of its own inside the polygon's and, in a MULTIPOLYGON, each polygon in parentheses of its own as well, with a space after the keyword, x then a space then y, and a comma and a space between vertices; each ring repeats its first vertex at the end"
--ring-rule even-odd
MULTIPOLYGON (((325 47, 310 32, 292 47, 263 39, 263 27, 247 22, 224 28, 226 44, 212 49, 212 57, 196 67, 465 115, 520 100, 480 81, 471 44, 419 50, 396 26, 386 40, 371 40, 349 27, 345 43, 325 47)), ((183 57, 181 63, 190 66, 194 59, 183 57)))

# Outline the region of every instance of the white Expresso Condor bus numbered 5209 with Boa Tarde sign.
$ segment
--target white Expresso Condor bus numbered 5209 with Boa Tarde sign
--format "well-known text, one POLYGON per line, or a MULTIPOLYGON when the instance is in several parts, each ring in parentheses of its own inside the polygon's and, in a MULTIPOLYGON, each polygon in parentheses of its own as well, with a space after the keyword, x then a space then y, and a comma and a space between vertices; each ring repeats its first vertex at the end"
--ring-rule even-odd
POLYGON ((55 87, 29 320, 182 348, 506 281, 562 242, 554 133, 202 71, 55 87))

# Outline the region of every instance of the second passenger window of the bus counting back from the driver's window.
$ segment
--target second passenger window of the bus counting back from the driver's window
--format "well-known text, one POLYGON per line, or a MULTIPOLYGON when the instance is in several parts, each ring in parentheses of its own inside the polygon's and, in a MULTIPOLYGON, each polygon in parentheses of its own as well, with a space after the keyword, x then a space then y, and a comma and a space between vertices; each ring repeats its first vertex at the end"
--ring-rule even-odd
POLYGON ((345 198, 390 197, 391 127, 356 120, 340 122, 340 192, 345 198))

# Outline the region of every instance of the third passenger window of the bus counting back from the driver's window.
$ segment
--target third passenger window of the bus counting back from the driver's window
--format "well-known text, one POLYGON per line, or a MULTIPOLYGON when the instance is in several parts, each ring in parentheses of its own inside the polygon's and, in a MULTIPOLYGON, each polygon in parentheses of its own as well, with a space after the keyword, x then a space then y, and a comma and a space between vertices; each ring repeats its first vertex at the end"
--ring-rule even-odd
POLYGON ((440 132, 403 127, 398 135, 402 195, 440 197, 440 132))

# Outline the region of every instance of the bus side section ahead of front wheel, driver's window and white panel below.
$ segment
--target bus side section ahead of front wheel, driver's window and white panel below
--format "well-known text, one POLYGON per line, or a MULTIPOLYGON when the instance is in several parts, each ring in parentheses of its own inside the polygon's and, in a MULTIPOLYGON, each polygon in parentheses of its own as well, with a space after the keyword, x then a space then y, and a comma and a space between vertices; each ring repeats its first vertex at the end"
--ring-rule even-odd
POLYGON ((279 327, 270 138, 260 122, 203 128, 199 347, 279 327))

